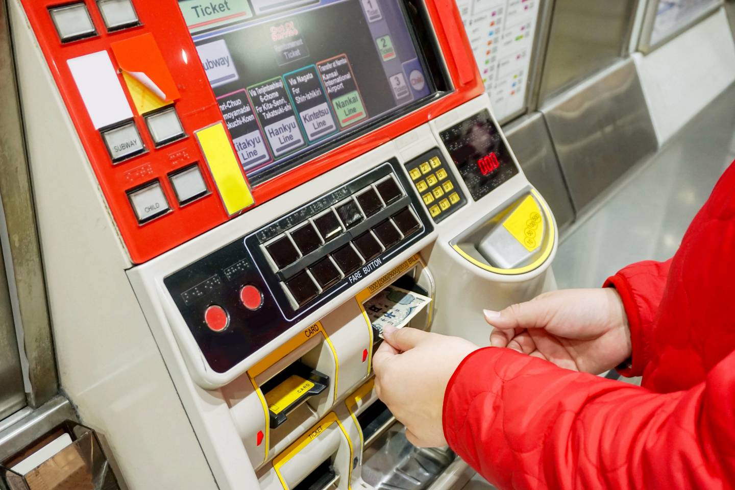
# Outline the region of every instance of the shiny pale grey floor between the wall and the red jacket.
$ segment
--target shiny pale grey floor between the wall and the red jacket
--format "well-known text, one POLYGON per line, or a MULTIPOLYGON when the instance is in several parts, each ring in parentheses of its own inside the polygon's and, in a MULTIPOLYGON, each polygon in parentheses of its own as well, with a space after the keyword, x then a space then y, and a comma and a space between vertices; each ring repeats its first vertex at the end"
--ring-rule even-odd
POLYGON ((673 256, 733 159, 735 84, 562 237, 553 264, 559 287, 599 287, 627 264, 673 256))

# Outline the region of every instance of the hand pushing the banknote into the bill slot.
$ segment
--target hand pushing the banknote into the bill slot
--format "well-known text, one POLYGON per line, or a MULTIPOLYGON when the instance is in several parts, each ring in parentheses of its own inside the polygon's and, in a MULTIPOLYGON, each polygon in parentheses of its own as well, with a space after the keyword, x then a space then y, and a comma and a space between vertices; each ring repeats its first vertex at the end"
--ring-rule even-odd
POLYGON ((478 347, 459 337, 409 327, 386 328, 383 335, 385 342, 373 356, 378 397, 406 426, 411 444, 445 446, 444 392, 462 359, 478 347))

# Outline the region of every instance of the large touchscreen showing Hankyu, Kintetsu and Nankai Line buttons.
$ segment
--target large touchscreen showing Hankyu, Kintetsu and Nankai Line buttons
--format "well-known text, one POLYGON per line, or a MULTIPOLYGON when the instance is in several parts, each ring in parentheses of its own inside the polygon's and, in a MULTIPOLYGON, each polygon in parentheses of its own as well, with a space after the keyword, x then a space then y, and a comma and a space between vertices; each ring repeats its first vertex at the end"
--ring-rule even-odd
POLYGON ((179 1, 251 184, 437 93, 405 1, 179 1))

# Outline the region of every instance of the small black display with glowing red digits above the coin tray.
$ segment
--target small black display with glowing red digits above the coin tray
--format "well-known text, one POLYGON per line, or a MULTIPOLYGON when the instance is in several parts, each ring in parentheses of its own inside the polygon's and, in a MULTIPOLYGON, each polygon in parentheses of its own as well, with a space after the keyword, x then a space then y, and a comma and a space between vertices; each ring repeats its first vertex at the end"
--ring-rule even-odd
POLYGON ((518 173, 487 109, 442 131, 440 137, 475 201, 518 173))

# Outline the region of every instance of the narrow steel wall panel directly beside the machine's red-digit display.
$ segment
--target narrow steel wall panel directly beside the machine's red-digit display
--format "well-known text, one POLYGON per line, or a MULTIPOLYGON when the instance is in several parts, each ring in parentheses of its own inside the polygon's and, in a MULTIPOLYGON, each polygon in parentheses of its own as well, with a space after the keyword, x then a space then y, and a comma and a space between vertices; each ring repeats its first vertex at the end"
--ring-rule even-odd
POLYGON ((556 224, 559 228, 568 226, 574 220, 574 208, 543 115, 534 112, 503 131, 528 181, 551 206, 556 224))

